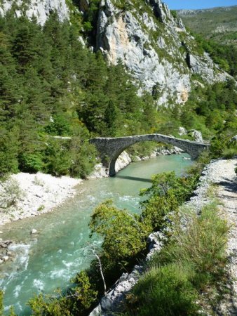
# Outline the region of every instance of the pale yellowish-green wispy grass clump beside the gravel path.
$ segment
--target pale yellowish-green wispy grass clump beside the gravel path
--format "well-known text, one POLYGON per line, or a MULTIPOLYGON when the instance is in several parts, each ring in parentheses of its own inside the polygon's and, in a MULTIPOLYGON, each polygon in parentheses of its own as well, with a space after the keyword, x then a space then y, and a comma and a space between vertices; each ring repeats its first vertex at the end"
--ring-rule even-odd
POLYGON ((184 209, 174 218, 174 223, 170 243, 161 254, 154 256, 151 265, 185 263, 194 268, 200 277, 199 281, 202 279, 200 275, 203 275, 205 282, 215 279, 226 263, 229 231, 226 220, 219 216, 217 204, 213 202, 204 206, 200 216, 190 209, 184 209), (185 229, 182 226, 184 223, 185 229))

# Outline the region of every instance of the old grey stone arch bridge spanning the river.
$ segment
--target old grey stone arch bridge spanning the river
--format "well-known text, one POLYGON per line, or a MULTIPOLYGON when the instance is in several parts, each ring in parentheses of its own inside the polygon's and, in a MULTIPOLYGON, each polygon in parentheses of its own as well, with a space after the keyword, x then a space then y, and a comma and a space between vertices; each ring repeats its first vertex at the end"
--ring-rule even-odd
POLYGON ((105 167, 109 168, 109 176, 115 176, 115 163, 121 152, 126 150, 126 148, 130 145, 151 140, 158 143, 166 143, 177 146, 184 150, 184 152, 190 154, 192 159, 196 159, 203 150, 207 150, 210 147, 208 144, 198 143, 191 140, 183 140, 161 134, 147 134, 116 138, 97 137, 90 139, 90 143, 95 145, 100 153, 102 163, 105 167))

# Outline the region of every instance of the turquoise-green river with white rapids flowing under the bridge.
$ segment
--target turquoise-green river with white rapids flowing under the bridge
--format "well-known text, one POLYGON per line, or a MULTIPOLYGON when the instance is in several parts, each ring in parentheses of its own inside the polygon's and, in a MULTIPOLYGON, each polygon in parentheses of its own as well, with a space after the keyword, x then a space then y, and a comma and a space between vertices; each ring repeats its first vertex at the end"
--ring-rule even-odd
POLYGON ((76 197, 55 211, 0 226, 3 239, 20 242, 13 249, 18 253, 16 260, 0 268, 6 310, 13 305, 19 315, 29 315, 25 304, 34 294, 52 293, 69 284, 90 263, 89 243, 100 244, 89 239, 88 223, 95 206, 113 199, 119 208, 138 213, 140 189, 151 185, 151 175, 172 170, 183 173, 192 163, 184 156, 188 157, 160 156, 130 164, 114 178, 83 181, 76 197), (32 228, 38 231, 36 235, 30 235, 32 228))

